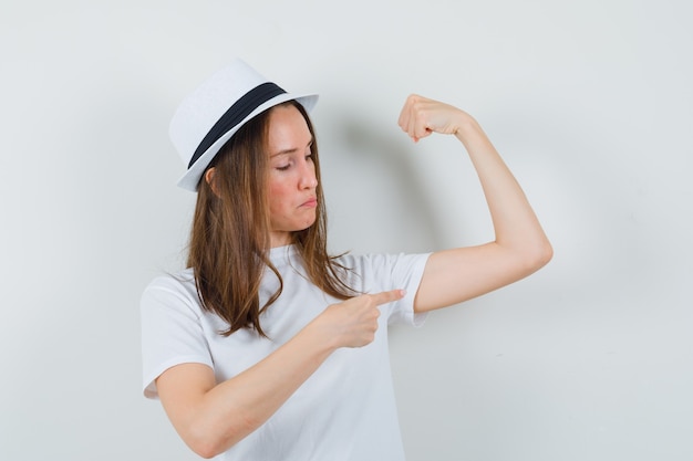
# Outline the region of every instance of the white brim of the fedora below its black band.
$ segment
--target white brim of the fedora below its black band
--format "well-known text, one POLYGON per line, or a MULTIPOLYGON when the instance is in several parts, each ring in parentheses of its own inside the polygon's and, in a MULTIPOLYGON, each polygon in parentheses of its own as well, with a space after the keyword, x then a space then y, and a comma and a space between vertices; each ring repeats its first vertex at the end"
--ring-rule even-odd
POLYGON ((219 153, 219 149, 228 142, 231 136, 236 134, 248 121, 252 119, 257 115, 262 112, 271 108, 281 103, 286 103, 287 101, 296 99, 299 102, 306 111, 310 112, 316 106, 318 102, 317 94, 289 94, 282 93, 278 96, 272 97, 271 99, 260 104, 255 111, 252 111, 246 118, 244 118, 238 125, 234 126, 231 129, 226 132, 219 139, 217 139, 205 153, 193 164, 190 168, 183 175, 183 177, 178 180, 178 187, 190 190, 193 192, 197 191, 197 187, 199 186, 199 180, 214 159, 214 157, 219 153))

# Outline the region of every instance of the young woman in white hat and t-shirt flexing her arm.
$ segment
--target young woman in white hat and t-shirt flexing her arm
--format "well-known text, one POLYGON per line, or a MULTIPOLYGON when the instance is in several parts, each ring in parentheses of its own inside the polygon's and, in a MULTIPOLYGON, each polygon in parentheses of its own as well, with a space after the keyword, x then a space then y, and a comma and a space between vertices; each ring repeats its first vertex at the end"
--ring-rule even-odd
POLYGON ((403 460, 387 325, 529 275, 551 247, 477 122, 412 95, 399 124, 453 135, 493 218, 486 244, 331 256, 320 160, 291 95, 235 61, 179 107, 172 138, 197 190, 188 269, 142 298, 144 386, 183 440, 225 460, 403 460))

